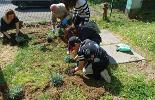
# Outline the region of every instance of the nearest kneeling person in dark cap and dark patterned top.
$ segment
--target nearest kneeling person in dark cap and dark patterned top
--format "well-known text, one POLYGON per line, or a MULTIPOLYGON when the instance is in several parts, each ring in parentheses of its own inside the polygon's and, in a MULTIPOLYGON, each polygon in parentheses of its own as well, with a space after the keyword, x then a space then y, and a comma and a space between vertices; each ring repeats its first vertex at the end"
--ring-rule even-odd
POLYGON ((96 42, 86 39, 83 42, 73 36, 68 41, 68 49, 72 53, 77 53, 75 60, 77 67, 69 70, 69 75, 82 70, 85 75, 92 74, 95 79, 104 78, 106 82, 111 82, 111 77, 107 71, 109 59, 106 51, 103 50, 96 42))

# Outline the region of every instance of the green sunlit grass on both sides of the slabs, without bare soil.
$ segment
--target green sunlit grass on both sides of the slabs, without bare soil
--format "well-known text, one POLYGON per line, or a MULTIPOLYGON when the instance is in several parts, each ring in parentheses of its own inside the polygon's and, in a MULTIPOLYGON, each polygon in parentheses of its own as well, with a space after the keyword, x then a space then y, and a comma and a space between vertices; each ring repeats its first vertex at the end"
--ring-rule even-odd
MULTIPOLYGON (((94 8, 102 11, 101 6, 97 5, 94 8)), ((109 29, 121 34, 127 37, 129 42, 147 49, 152 52, 153 56, 155 55, 155 22, 130 20, 122 12, 118 11, 113 12, 110 22, 103 21, 102 16, 93 16, 92 19, 97 22, 101 29, 109 29)), ((44 34, 44 32, 40 33, 44 34)), ((42 51, 38 48, 40 44, 33 44, 38 38, 35 35, 29 36, 32 37, 29 46, 19 48, 14 61, 3 69, 5 80, 12 89, 18 86, 26 86, 28 83, 31 83, 35 88, 44 88, 45 84, 50 81, 53 72, 62 74, 69 66, 64 61, 66 48, 62 42, 55 40, 49 45, 41 44, 46 45, 47 48, 46 51, 42 51)), ((45 38, 45 35, 41 38, 45 38)), ((0 47, 3 46, 0 45, 0 47)), ((114 96, 124 100, 155 99, 155 81, 146 80, 145 73, 128 72, 129 66, 135 67, 126 64, 118 65, 115 69, 113 66, 110 67, 112 83, 103 85, 106 92, 100 97, 101 100, 112 100, 114 96)), ((68 77, 64 76, 64 81, 68 77)), ((62 91, 59 95, 61 100, 87 99, 83 89, 74 84, 71 84, 68 89, 62 91)), ((40 100, 51 99, 50 94, 46 91, 42 91, 34 98, 40 100)))

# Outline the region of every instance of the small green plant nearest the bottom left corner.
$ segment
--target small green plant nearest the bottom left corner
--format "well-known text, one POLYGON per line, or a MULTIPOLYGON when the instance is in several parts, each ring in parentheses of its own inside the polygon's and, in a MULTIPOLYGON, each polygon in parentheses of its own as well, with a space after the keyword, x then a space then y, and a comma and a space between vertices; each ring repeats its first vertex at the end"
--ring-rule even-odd
POLYGON ((9 93, 9 98, 11 100, 18 100, 22 97, 23 94, 23 87, 22 86, 15 86, 15 87, 11 87, 8 90, 9 93))

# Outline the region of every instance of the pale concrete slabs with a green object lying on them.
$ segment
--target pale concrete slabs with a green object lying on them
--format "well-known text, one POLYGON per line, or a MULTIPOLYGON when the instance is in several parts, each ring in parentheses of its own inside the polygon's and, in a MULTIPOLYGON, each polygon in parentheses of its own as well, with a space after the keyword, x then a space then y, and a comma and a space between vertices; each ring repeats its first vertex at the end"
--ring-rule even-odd
POLYGON ((111 64, 141 61, 145 59, 136 53, 132 47, 132 52, 130 53, 117 52, 117 44, 122 43, 122 39, 114 35, 111 31, 101 30, 100 35, 102 37, 101 46, 108 53, 111 64))

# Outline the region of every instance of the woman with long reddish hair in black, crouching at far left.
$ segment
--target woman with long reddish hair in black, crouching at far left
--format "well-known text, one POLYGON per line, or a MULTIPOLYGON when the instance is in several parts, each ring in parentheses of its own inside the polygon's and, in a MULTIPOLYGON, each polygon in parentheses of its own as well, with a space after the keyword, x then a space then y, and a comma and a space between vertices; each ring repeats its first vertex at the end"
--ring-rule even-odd
POLYGON ((7 31, 16 29, 16 36, 18 36, 21 27, 22 22, 19 21, 15 12, 12 9, 6 10, 5 15, 0 19, 0 32, 3 34, 3 38, 13 41, 7 31))

